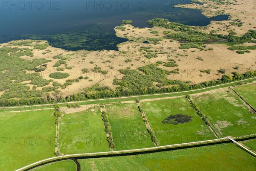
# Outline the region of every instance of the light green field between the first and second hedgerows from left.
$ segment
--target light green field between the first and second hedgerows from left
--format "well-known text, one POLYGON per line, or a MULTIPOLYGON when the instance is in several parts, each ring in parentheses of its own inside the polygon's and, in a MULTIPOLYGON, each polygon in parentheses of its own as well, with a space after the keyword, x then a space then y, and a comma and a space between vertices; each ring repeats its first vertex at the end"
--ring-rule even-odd
POLYGON ((109 151, 104 129, 99 108, 65 114, 59 125, 61 154, 109 151))

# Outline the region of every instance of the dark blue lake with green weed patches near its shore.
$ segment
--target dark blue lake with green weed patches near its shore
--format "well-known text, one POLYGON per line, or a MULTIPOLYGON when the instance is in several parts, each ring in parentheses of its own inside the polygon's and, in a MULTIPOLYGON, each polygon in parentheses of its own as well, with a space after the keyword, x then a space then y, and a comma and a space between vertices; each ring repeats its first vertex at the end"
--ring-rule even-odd
POLYGON ((173 8, 190 0, 41 0, 0 1, 1 43, 16 39, 48 40, 68 50, 117 49, 127 41, 117 38, 113 28, 122 20, 135 27, 152 27, 155 17, 190 26, 207 26, 210 20, 227 20, 228 15, 205 17, 200 10, 173 8))

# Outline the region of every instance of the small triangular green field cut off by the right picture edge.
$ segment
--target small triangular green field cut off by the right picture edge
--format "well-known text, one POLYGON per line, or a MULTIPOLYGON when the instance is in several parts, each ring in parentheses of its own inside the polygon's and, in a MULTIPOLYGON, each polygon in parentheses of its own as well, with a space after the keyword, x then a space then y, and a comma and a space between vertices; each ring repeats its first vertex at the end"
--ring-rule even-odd
POLYGON ((256 110, 256 84, 237 86, 234 90, 256 110))

